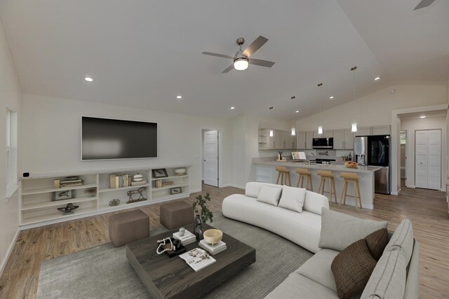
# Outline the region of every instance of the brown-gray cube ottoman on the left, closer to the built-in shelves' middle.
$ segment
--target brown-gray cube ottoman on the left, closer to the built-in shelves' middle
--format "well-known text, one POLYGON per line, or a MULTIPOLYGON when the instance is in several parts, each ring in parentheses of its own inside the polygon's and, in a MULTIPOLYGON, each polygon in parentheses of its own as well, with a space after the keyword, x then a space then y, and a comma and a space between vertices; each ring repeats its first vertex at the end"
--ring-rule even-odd
POLYGON ((109 238, 119 247, 149 237, 149 217, 140 210, 109 217, 109 238))

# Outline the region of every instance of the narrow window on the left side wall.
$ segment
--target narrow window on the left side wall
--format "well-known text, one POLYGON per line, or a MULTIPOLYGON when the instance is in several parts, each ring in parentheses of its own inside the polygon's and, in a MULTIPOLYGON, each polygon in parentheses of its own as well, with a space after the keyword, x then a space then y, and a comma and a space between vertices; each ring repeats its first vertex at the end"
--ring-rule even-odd
POLYGON ((6 198, 18 188, 17 181, 17 113, 6 108, 6 198))

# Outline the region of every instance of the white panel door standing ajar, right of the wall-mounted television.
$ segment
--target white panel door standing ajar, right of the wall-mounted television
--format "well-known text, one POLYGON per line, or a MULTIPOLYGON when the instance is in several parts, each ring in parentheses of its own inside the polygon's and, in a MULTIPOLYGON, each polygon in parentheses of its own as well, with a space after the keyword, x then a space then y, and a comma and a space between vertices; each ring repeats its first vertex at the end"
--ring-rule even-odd
POLYGON ((218 187, 218 131, 206 131, 203 136, 204 183, 218 187))

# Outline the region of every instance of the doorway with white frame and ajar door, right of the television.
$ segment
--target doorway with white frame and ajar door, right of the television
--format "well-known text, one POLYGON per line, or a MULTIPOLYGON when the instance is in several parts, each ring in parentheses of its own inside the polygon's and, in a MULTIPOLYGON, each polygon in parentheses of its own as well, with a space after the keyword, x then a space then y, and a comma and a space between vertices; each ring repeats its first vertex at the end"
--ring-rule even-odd
POLYGON ((220 181, 220 131, 201 130, 202 140, 202 181, 203 184, 213 187, 219 186, 220 181))

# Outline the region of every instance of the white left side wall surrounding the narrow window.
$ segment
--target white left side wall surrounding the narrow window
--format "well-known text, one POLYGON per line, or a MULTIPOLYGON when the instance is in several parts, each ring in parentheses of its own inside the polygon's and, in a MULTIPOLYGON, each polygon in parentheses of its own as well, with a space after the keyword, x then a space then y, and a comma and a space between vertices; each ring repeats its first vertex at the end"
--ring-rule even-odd
MULTIPOLYGON (((6 254, 15 234, 18 232, 19 212, 18 193, 16 192, 8 201, 6 195, 6 106, 18 113, 19 145, 20 148, 20 118, 22 92, 17 74, 11 59, 11 53, 6 42, 3 26, 0 22, 0 272, 6 261, 6 254)), ((19 152, 20 153, 20 152, 19 152)), ((20 163, 20 154, 18 155, 20 163)))

